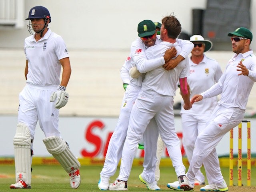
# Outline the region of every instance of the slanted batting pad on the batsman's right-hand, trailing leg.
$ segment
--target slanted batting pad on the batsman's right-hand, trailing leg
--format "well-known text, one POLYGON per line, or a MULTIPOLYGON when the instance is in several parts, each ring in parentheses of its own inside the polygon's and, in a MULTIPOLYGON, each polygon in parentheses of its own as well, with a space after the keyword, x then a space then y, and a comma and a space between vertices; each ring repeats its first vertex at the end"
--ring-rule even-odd
POLYGON ((43 142, 48 152, 58 160, 67 173, 80 168, 80 162, 62 138, 50 136, 43 139, 43 142))

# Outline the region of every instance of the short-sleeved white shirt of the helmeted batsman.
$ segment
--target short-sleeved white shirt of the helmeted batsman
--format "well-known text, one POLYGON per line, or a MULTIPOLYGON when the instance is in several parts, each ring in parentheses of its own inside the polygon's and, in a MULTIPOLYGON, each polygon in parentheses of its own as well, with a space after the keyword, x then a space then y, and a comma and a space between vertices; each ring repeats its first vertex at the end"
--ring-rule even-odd
POLYGON ((25 39, 24 52, 28 60, 27 83, 38 86, 60 85, 60 59, 69 57, 64 40, 51 32, 36 42, 34 35, 25 39))

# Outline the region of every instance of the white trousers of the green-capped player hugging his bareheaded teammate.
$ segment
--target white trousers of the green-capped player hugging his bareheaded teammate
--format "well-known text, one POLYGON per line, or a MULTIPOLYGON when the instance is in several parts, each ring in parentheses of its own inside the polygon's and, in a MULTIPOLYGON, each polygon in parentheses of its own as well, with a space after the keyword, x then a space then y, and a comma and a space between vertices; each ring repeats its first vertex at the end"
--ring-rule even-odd
MULTIPOLYGON (((132 85, 128 85, 126 88, 124 98, 122 100, 122 106, 121 106, 118 122, 116 124, 114 133, 110 138, 104 166, 102 168, 102 171, 100 172, 101 176, 110 178, 116 172, 118 163, 122 156, 122 150, 123 150, 124 141, 126 138, 132 106, 134 105, 134 102, 138 96, 138 93, 140 92, 140 89, 141 89, 140 87, 132 86, 132 85)), ((151 130, 151 132, 150 131, 145 132, 144 134, 145 140, 148 140, 147 138, 150 138, 150 134, 158 134, 157 125, 154 119, 150 121, 150 124, 148 125, 148 127, 149 127, 149 130, 151 130)), ((156 153, 156 146, 152 144, 154 144, 154 142, 144 146, 145 154, 156 153)), ((127 149, 124 148, 124 150, 127 150, 127 149)), ((144 160, 143 172, 145 173, 145 175, 148 175, 148 172, 150 173, 152 172, 152 174, 154 174, 155 164, 156 164, 156 158, 144 160)))

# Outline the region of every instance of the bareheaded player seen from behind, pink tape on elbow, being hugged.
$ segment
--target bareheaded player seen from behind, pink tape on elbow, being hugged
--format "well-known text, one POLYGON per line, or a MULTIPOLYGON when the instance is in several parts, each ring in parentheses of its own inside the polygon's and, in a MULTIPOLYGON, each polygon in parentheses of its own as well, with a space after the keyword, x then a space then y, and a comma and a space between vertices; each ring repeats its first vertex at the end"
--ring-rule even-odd
MULTIPOLYGON (((161 26, 161 39, 163 42, 156 46, 151 46, 146 50, 148 59, 162 56, 162 53, 172 46, 175 46, 178 53, 180 53, 181 48, 176 42, 176 38, 180 31, 180 22, 178 22, 174 16, 163 18, 161 26)), ((192 50, 192 48, 190 50, 192 50)), ((134 59, 139 57, 139 55, 140 52, 135 52, 134 59)), ((190 188, 186 181, 185 166, 182 163, 180 142, 175 132, 174 114, 172 110, 173 96, 175 95, 176 83, 179 78, 182 84, 182 96, 185 100, 184 108, 191 108, 186 84, 186 76, 189 74, 188 60, 186 61, 185 59, 185 61, 180 62, 174 70, 168 71, 162 66, 153 69, 152 66, 148 66, 144 63, 137 63, 136 67, 141 73, 146 72, 146 74, 142 81, 142 89, 131 111, 126 140, 124 142, 124 148, 126 150, 123 150, 122 152, 120 173, 116 181, 113 184, 110 184, 108 189, 127 190, 127 180, 132 168, 136 146, 153 117, 157 122, 159 132, 162 138, 164 138, 163 140, 166 143, 166 146, 168 146, 168 151, 169 154, 171 154, 181 188, 190 188)), ((156 141, 158 135, 151 134, 151 138, 151 142, 156 141)), ((146 146, 147 142, 150 141, 144 140, 144 142, 146 146)), ((154 156, 156 156, 156 154, 154 154, 154 156)), ((154 156, 151 158, 154 158, 154 156)), ((146 184, 146 186, 150 186, 150 181, 146 179, 144 173, 140 174, 139 178, 146 184)), ((150 179, 155 182, 154 174, 150 179)))

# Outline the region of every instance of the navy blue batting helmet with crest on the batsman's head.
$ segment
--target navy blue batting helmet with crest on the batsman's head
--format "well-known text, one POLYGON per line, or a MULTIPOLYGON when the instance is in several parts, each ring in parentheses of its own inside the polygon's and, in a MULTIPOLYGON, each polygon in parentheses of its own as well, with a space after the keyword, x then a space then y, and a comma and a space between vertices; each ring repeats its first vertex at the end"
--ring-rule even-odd
POLYGON ((50 16, 50 12, 48 11, 48 9, 46 9, 43 6, 35 6, 30 9, 28 18, 26 18, 26 20, 41 19, 41 18, 49 19, 51 22, 51 16, 50 16))

